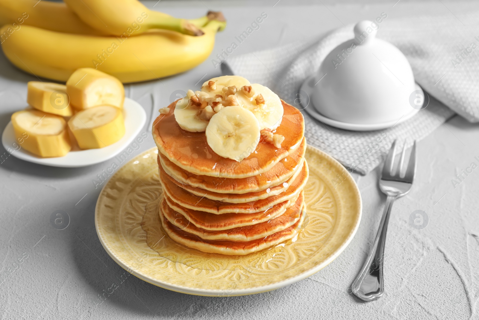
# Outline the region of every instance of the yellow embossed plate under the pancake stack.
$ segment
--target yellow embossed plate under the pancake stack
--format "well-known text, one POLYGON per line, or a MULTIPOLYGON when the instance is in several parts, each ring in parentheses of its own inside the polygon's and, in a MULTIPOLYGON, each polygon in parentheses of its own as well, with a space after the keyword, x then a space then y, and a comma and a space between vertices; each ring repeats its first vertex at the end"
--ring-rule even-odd
POLYGON ((361 196, 354 179, 331 156, 308 146, 308 216, 297 237, 246 256, 189 249, 161 229, 157 154, 157 148, 149 149, 120 168, 100 193, 95 210, 96 231, 106 252, 150 284, 201 296, 274 290, 328 265, 359 225, 361 196))

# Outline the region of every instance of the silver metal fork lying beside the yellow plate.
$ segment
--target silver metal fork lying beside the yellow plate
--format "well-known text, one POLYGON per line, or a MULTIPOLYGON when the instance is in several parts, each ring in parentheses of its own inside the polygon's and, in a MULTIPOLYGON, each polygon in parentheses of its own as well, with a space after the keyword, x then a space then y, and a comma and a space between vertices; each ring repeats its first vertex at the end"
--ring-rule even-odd
POLYGON ((401 175, 401 172, 404 171, 405 144, 402 149, 398 169, 393 171, 396 142, 397 140, 392 143, 391 149, 389 149, 388 156, 384 162, 381 179, 379 180, 379 188, 388 196, 381 223, 379 224, 379 230, 377 231, 373 248, 371 248, 363 268, 351 285, 351 290, 354 295, 365 301, 375 300, 384 293, 383 259, 389 215, 394 200, 402 197, 411 190, 412 181, 416 173, 416 141, 414 141, 414 145, 412 146, 411 156, 404 176, 401 175))

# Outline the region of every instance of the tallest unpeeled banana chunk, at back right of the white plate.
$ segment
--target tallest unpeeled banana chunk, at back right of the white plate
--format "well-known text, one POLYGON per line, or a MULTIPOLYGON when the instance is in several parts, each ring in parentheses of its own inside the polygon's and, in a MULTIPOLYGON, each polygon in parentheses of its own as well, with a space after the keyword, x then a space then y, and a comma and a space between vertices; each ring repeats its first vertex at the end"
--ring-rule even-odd
POLYGON ((123 108, 125 88, 115 77, 92 68, 73 72, 67 81, 70 103, 77 109, 110 105, 123 108))

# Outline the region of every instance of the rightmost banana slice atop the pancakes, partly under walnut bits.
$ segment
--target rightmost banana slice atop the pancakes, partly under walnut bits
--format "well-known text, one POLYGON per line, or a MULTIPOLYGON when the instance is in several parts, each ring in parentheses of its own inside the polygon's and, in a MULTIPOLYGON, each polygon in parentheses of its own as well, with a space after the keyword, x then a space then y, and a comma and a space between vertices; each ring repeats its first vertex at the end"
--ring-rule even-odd
POLYGON ((251 83, 253 95, 248 97, 245 92, 239 90, 236 94, 239 104, 250 110, 260 123, 260 129, 276 129, 283 119, 283 104, 281 99, 268 87, 262 86, 258 83, 251 83), (262 95, 264 99, 263 104, 258 104, 256 98, 262 95))

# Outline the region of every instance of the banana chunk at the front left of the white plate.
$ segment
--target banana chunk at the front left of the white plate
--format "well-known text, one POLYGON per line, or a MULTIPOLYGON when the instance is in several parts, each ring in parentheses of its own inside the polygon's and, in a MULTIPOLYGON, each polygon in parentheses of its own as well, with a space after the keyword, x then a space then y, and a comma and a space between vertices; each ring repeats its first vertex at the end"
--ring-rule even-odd
POLYGON ((15 138, 23 138, 22 147, 33 154, 61 157, 71 149, 67 123, 60 116, 38 110, 23 110, 11 115, 11 123, 15 138))

